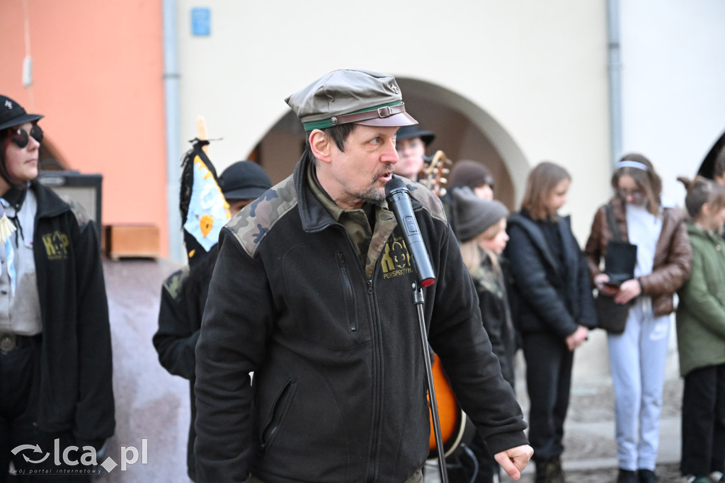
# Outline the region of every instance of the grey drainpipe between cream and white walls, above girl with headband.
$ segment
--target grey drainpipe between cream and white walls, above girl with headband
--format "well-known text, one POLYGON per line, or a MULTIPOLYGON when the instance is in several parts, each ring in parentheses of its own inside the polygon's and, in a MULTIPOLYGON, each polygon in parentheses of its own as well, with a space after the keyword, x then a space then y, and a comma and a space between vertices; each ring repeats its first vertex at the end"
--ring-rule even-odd
POLYGON ((619 46, 619 0, 607 1, 609 51, 609 123, 612 170, 622 154, 622 83, 619 46))

